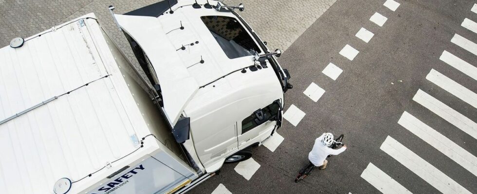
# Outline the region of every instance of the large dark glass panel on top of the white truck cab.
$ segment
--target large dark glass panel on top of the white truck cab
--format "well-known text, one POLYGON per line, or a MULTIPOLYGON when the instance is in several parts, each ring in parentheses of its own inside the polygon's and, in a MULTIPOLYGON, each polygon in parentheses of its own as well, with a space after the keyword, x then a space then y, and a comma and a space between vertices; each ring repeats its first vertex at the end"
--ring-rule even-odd
POLYGON ((201 19, 229 59, 254 55, 255 51, 260 53, 237 19, 227 16, 202 16, 201 19))

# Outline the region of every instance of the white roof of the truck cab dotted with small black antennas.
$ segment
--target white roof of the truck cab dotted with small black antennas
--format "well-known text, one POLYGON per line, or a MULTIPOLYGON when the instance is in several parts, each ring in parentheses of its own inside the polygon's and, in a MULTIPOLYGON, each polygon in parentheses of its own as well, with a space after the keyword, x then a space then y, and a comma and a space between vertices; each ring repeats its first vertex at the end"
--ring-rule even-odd
MULTIPOLYGON (((202 0, 200 3, 205 2, 202 0)), ((209 2, 212 5, 218 3, 215 0, 209 2)), ((184 109, 194 111, 203 105, 213 104, 220 97, 233 94, 234 87, 240 83, 269 79, 268 75, 276 79, 272 68, 240 73, 238 70, 254 65, 253 56, 227 57, 201 19, 202 16, 237 17, 231 12, 219 12, 214 8, 196 9, 191 6, 193 3, 195 0, 179 0, 171 8, 173 14, 167 10, 158 17, 115 15, 119 26, 139 44, 154 67, 161 85, 165 113, 172 125, 175 125, 184 109), (194 44, 191 46, 190 43, 194 44), (267 76, 260 78, 258 74, 267 76), (233 79, 222 79, 229 76, 233 79), (218 84, 207 85, 217 80, 220 80, 218 84), (194 98, 194 107, 189 107, 189 102, 194 98)), ((263 53, 261 49, 257 51, 263 53)))

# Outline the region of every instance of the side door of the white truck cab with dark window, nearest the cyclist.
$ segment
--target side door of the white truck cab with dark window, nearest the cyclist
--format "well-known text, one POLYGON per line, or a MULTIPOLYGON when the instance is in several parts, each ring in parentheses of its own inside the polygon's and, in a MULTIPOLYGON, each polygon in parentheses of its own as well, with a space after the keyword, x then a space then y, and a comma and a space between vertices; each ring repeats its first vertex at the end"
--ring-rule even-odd
POLYGON ((256 142, 254 141, 255 138, 271 132, 275 128, 278 113, 279 104, 278 101, 275 101, 238 122, 238 149, 250 146, 253 142, 256 142))

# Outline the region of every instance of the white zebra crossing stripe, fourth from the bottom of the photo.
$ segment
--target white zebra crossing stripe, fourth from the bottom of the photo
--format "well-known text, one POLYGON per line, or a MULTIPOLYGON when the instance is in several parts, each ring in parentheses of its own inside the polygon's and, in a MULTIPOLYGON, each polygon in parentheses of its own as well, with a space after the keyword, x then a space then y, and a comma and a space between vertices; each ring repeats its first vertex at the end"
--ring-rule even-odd
POLYGON ((445 105, 435 97, 432 97, 422 90, 418 90, 412 99, 433 113, 439 115, 450 124, 456 126, 460 130, 477 139, 477 123, 470 120, 466 116, 445 105))

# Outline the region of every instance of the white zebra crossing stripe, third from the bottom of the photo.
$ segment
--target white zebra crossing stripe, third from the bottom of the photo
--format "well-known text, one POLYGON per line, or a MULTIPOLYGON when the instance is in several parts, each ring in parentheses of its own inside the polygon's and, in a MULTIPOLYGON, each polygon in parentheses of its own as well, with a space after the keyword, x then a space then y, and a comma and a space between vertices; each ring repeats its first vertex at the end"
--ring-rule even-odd
POLYGON ((407 112, 398 123, 477 176, 477 157, 407 112))

